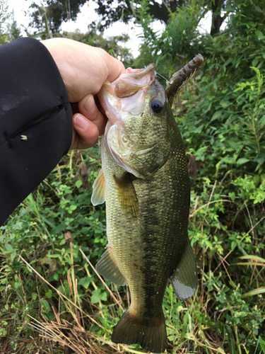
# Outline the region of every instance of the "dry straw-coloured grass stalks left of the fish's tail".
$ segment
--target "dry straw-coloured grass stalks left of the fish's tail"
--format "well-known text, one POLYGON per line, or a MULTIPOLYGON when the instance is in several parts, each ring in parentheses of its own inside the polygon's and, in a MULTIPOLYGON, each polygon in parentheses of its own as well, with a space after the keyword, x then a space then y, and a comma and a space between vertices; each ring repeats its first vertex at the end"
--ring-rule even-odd
MULTIPOLYGON (((90 265, 91 268, 95 271, 95 273, 98 275, 100 280, 102 281, 103 285, 106 287, 107 291, 110 292, 110 296, 112 297, 112 300, 114 300, 114 303, 116 304, 116 307, 121 308, 124 311, 124 307, 122 307, 122 299, 119 296, 119 293, 117 292, 117 295, 114 295, 114 292, 110 290, 109 287, 105 284, 104 280, 100 277, 98 272, 95 270, 93 265, 90 263, 86 255, 83 253, 81 250, 81 253, 83 254, 83 257, 88 261, 88 264, 90 265)), ((45 278, 40 275, 27 261, 25 261, 24 258, 20 256, 21 260, 28 265, 28 267, 33 270, 37 276, 44 282, 49 285, 49 287, 52 287, 53 290, 57 292, 59 295, 59 299, 61 302, 64 302, 64 305, 66 307, 66 312, 68 314, 71 314, 71 317, 73 319, 73 322, 76 325, 71 324, 69 321, 66 321, 65 319, 61 319, 61 315, 59 312, 57 312, 54 307, 52 307, 54 316, 56 318, 56 321, 47 321, 45 317, 43 317, 42 320, 38 321, 37 319, 34 319, 32 316, 29 316, 31 321, 30 321, 30 328, 33 329, 33 331, 39 333, 39 340, 35 343, 36 345, 33 346, 33 348, 30 348, 30 351, 28 352, 29 354, 33 353, 49 353, 49 354, 55 354, 55 353, 74 353, 74 354, 112 354, 112 353, 135 353, 135 354, 141 354, 143 351, 139 352, 137 350, 134 350, 134 348, 129 348, 129 346, 125 346, 122 344, 115 344, 112 343, 112 341, 108 341, 106 338, 102 336, 97 336, 96 333, 91 333, 90 331, 87 331, 85 329, 84 323, 86 320, 90 322, 90 324, 96 324, 99 326, 101 329, 104 329, 101 324, 98 323, 90 314, 86 313, 81 309, 81 307, 78 306, 78 294, 77 294, 77 287, 76 281, 71 278, 71 276, 68 277, 69 281, 69 286, 71 288, 71 294, 73 297, 73 301, 66 297, 64 294, 59 292, 55 287, 53 287, 45 278), (35 351, 39 350, 40 346, 40 338, 42 338, 42 346, 45 347, 44 351, 35 351), (55 347, 55 348, 54 348, 55 347), (32 350, 32 351, 31 351, 32 350), (63 351, 61 351, 63 350, 63 351)), ((72 263, 72 268, 74 267, 72 263)), ((70 272, 71 273, 71 272, 70 272)), ((100 310, 100 309, 99 309, 100 310)), ((101 314, 101 316, 104 318, 104 315, 102 312, 98 312, 98 314, 101 314)), ((105 331, 110 332, 110 330, 105 329, 105 331)), ((1 353, 1 352, 0 352, 1 353)), ((3 354, 11 354, 11 352, 4 352, 3 354)), ((13 353, 12 353, 13 354, 13 353)), ((16 353, 17 354, 17 353, 16 353)))

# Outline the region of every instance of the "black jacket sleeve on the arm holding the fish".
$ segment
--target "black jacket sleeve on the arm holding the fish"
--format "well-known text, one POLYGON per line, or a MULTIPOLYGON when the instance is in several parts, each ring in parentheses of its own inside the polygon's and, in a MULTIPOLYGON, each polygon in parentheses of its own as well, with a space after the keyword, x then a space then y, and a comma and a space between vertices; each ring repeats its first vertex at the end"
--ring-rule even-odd
POLYGON ((32 38, 0 47, 0 225, 71 146, 72 113, 47 48, 32 38))

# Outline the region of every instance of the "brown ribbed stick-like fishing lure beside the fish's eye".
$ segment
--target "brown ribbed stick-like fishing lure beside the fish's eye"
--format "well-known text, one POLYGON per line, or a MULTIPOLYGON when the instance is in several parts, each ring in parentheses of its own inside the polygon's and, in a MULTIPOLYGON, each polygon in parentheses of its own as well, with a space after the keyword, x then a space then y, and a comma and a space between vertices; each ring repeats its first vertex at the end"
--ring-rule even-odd
POLYGON ((201 64, 204 62, 204 58, 201 54, 197 54, 190 62, 188 62, 182 69, 172 75, 170 81, 167 81, 165 92, 167 93, 168 102, 173 104, 177 98, 177 93, 180 89, 192 79, 195 72, 201 64))

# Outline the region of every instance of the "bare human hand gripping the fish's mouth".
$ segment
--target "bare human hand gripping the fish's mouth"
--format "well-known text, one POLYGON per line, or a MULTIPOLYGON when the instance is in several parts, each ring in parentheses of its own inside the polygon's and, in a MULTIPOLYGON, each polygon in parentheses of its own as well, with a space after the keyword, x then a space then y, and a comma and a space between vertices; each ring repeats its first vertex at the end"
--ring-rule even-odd
POLYGON ((43 40, 42 44, 57 64, 70 103, 77 103, 70 149, 92 147, 104 133, 106 124, 94 96, 105 80, 112 82, 125 73, 124 65, 105 50, 75 40, 52 38, 43 40))

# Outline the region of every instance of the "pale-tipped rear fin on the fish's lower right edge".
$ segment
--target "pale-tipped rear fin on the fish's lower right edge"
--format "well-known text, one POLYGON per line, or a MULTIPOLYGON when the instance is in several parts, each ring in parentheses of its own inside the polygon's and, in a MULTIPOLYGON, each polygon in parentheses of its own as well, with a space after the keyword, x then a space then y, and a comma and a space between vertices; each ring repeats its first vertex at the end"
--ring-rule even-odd
POLYGON ((179 299, 189 299, 197 287, 196 259, 189 239, 177 268, 170 276, 172 287, 179 299))

